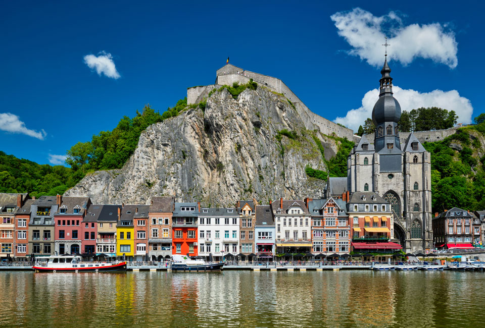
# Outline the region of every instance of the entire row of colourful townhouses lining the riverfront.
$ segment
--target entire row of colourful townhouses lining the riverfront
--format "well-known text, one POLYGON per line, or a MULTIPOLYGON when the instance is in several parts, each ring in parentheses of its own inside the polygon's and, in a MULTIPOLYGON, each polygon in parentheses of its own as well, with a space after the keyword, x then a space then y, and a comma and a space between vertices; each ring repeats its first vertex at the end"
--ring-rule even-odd
MULTIPOLYGON (((457 208, 437 213, 435 247, 481 245, 483 214, 457 208)), ((393 227, 390 204, 373 192, 280 198, 269 205, 240 200, 218 208, 173 197, 113 205, 92 204, 89 197, 0 194, 0 256, 17 261, 54 254, 136 261, 171 254, 263 261, 351 252, 384 257, 402 249, 393 227)), ((421 227, 412 234, 422 235, 421 227)))

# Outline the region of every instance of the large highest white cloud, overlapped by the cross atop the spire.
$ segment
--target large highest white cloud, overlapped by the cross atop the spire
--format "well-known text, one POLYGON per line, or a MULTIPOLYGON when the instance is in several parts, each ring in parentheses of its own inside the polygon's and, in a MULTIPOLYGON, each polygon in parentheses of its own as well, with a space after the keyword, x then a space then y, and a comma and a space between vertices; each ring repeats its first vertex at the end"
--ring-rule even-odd
POLYGON ((376 17, 368 11, 355 8, 350 12, 338 12, 330 16, 343 36, 352 46, 349 51, 370 65, 381 66, 383 62, 384 37, 387 36, 387 60, 397 60, 403 65, 414 58, 431 59, 436 63, 455 68, 458 65, 456 53, 458 43, 455 33, 447 31, 446 25, 404 25, 395 12, 376 17))

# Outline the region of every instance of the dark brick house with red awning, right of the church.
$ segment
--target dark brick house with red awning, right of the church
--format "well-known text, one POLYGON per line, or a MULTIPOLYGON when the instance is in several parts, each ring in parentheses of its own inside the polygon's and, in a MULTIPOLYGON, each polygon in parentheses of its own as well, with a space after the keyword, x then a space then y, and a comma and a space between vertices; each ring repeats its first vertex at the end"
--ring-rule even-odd
MULTIPOLYGON (((480 236, 478 218, 464 209, 453 207, 433 218, 433 242, 437 249, 473 248, 473 236, 480 236), (475 227, 475 230, 474 230, 475 227)), ((478 240, 479 242, 479 240, 478 240)))

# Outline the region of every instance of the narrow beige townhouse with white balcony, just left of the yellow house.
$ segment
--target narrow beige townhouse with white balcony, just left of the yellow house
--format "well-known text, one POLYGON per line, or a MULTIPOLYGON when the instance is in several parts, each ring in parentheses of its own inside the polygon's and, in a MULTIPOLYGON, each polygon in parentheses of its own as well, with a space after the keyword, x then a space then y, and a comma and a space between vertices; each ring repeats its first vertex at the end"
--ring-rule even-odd
POLYGON ((98 236, 96 237, 96 255, 105 258, 116 257, 116 226, 121 205, 91 205, 86 217, 96 218, 98 236))

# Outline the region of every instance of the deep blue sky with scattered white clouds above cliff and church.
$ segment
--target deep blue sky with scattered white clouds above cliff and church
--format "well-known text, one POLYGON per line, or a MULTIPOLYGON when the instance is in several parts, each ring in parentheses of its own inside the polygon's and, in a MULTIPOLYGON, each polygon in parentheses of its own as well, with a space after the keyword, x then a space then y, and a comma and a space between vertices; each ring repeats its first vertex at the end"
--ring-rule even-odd
POLYGON ((439 105, 464 123, 484 112, 480 2, 174 3, 4 2, 0 150, 62 161, 144 104, 163 112, 214 83, 228 56, 358 127, 377 97, 384 35, 404 110, 439 105))

